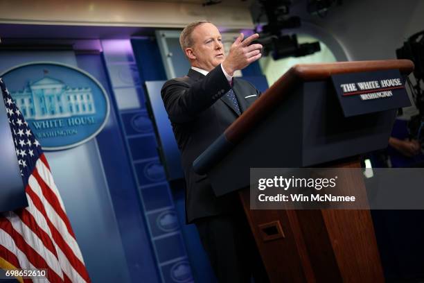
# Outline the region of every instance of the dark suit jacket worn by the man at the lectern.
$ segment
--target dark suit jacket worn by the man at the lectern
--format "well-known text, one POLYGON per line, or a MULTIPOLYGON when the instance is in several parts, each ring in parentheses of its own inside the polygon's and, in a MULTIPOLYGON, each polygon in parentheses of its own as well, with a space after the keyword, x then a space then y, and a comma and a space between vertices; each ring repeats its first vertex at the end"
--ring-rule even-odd
MULTIPOLYGON (((238 201, 235 194, 217 198, 206 175, 193 171, 193 161, 238 117, 233 105, 224 96, 230 88, 218 65, 207 76, 190 69, 187 76, 168 80, 161 89, 182 154, 188 222, 205 216, 231 213, 233 202, 238 201)), ((233 92, 241 112, 260 96, 253 85, 239 78, 233 79, 233 92)))

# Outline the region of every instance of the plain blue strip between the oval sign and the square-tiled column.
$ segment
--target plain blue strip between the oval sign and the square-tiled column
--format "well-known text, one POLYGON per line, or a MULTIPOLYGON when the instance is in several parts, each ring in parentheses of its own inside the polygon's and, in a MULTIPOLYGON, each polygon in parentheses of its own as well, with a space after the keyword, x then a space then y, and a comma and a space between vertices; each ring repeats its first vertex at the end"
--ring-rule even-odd
POLYGON ((77 55, 78 67, 102 83, 109 94, 109 121, 96 137, 107 178, 109 194, 122 238, 127 268, 132 282, 157 282, 157 269, 143 219, 138 190, 127 152, 123 131, 116 117, 116 101, 109 87, 105 65, 100 55, 77 55))

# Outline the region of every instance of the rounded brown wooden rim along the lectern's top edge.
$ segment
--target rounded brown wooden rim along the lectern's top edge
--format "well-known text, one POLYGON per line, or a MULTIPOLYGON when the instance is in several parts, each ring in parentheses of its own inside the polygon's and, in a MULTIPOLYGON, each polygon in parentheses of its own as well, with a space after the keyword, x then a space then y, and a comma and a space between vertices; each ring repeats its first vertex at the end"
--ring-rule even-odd
POLYGON ((374 60, 294 65, 224 131, 224 136, 231 144, 237 144, 249 129, 276 108, 298 83, 326 80, 334 74, 387 69, 398 69, 401 74, 408 75, 414 70, 414 63, 411 60, 374 60))

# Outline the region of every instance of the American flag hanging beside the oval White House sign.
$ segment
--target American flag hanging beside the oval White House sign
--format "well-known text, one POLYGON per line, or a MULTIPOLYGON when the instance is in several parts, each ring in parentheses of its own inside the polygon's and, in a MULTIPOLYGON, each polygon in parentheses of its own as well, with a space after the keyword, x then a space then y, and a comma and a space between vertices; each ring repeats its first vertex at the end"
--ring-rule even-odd
POLYGON ((0 268, 47 271, 19 282, 90 282, 42 148, 1 78, 0 87, 28 199, 28 207, 0 213, 0 268))

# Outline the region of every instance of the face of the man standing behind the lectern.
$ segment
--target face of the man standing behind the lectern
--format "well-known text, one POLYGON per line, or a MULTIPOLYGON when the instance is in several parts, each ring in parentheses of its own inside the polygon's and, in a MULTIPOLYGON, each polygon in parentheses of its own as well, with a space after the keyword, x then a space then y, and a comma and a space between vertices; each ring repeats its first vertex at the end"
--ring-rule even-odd
POLYGON ((197 26, 191 33, 193 46, 186 49, 192 65, 206 71, 211 71, 225 59, 224 46, 218 28, 210 23, 197 26))

